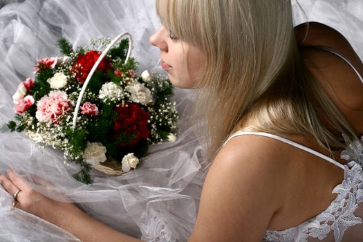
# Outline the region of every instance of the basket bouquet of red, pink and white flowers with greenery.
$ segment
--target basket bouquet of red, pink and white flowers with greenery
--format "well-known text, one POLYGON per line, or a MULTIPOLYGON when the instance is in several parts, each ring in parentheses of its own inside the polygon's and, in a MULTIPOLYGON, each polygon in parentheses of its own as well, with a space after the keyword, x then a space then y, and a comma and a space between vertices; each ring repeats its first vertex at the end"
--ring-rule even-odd
POLYGON ((16 115, 9 129, 64 151, 66 163, 80 164, 73 176, 84 183, 92 181, 91 167, 107 174, 136 169, 149 145, 176 139, 178 114, 169 80, 148 71, 136 75, 138 65, 127 55, 130 41, 123 39, 99 59, 110 39, 93 39, 91 48, 76 50, 59 39, 64 56, 37 60, 35 78, 21 82, 12 96, 16 115))

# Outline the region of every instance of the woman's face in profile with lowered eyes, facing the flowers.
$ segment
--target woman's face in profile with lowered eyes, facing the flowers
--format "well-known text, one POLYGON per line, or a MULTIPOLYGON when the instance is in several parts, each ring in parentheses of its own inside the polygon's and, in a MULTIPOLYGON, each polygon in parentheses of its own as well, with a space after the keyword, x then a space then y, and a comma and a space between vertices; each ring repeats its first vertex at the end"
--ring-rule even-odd
POLYGON ((171 83, 181 89, 194 89, 203 66, 201 49, 181 41, 164 26, 156 30, 149 41, 160 49, 161 66, 171 83))

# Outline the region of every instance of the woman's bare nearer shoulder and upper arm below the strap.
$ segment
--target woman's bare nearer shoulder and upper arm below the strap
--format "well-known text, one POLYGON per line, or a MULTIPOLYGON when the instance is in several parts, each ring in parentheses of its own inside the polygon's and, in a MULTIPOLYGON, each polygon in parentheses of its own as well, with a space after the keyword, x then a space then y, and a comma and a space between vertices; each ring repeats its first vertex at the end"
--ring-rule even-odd
POLYGON ((233 138, 216 156, 203 186, 189 241, 261 241, 282 206, 285 172, 279 142, 233 138))

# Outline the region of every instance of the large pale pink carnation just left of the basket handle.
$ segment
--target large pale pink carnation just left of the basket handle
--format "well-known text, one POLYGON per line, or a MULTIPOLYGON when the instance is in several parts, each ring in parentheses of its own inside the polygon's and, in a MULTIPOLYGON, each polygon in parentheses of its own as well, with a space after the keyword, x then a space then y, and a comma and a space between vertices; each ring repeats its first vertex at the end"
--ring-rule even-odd
POLYGON ((64 91, 51 91, 37 102, 35 117, 39 122, 53 122, 53 124, 57 124, 59 118, 71 108, 71 100, 68 100, 67 94, 64 91))

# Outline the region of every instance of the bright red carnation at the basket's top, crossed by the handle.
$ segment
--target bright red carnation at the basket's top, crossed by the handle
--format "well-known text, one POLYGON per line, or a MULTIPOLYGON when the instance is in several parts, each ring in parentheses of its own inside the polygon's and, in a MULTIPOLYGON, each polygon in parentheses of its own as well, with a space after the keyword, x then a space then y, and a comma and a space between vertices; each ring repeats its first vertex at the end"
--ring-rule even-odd
MULTIPOLYGON (((85 55, 78 55, 77 62, 73 64, 72 71, 75 72, 75 77, 82 84, 86 81, 87 76, 91 72, 93 65, 97 62, 98 57, 100 57, 100 53, 95 50, 91 50, 87 52, 85 55)), ((102 59, 100 65, 98 65, 97 70, 106 71, 111 68, 111 61, 106 57, 102 59)))

